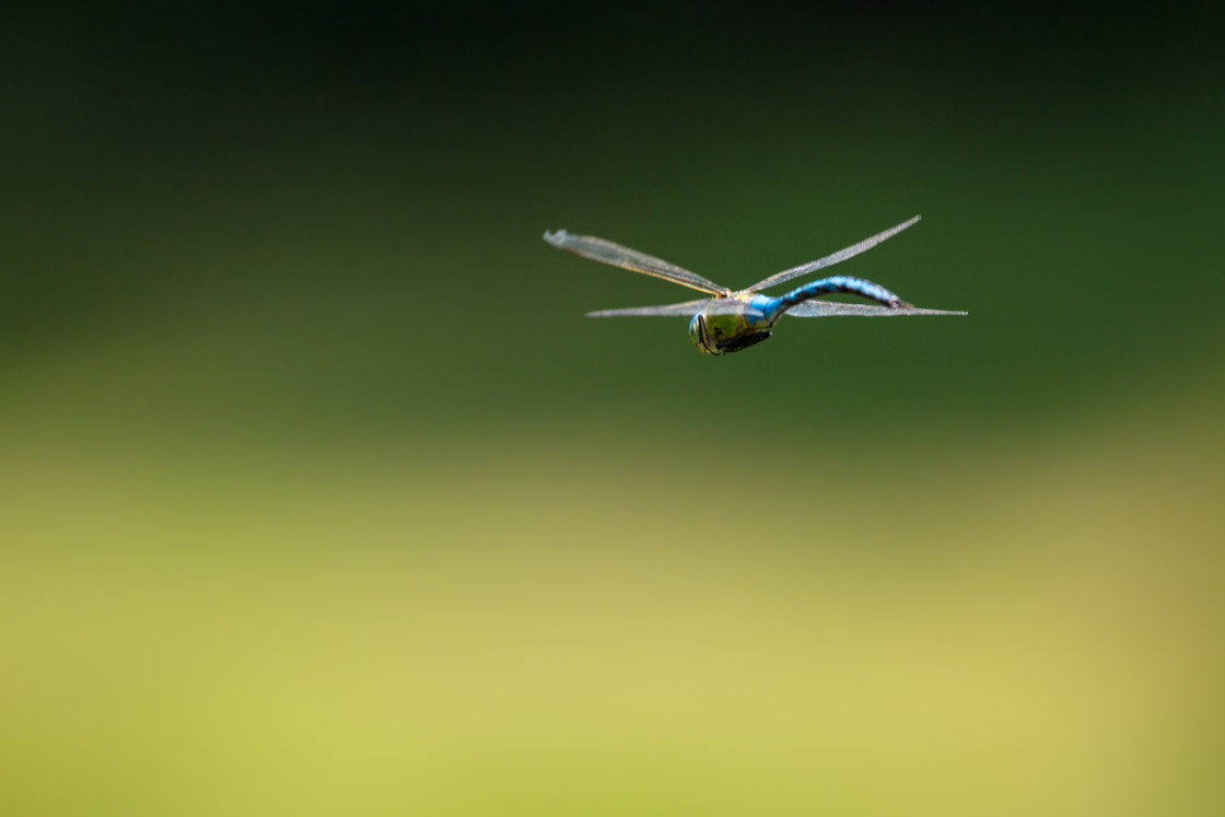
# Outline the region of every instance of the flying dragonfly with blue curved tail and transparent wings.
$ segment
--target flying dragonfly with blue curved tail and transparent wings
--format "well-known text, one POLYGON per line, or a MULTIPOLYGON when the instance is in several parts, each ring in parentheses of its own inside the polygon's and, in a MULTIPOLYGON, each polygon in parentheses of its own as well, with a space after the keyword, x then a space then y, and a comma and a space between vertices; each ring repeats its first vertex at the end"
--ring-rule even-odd
POLYGON ((902 230, 915 225, 921 216, 902 222, 887 230, 851 244, 837 252, 816 261, 801 263, 758 280, 747 289, 731 289, 703 278, 674 263, 662 261, 637 250, 598 239, 592 235, 575 235, 566 230, 545 232, 544 240, 555 247, 573 252, 584 258, 641 272, 655 278, 670 280, 681 287, 688 287, 706 293, 707 298, 668 304, 665 306, 631 306, 628 309, 606 309, 588 312, 587 317, 622 316, 684 316, 690 318, 690 338, 699 352, 712 355, 725 355, 740 352, 761 343, 773 334, 774 325, 783 315, 794 317, 831 317, 835 315, 859 315, 864 317, 884 315, 965 315, 962 311, 941 309, 920 309, 898 298, 884 287, 865 278, 833 276, 809 282, 779 298, 761 294, 769 289, 817 269, 823 269, 893 238, 902 230), (860 295, 876 304, 844 304, 820 300, 831 293, 849 293, 860 295))

